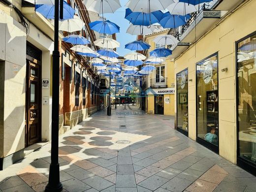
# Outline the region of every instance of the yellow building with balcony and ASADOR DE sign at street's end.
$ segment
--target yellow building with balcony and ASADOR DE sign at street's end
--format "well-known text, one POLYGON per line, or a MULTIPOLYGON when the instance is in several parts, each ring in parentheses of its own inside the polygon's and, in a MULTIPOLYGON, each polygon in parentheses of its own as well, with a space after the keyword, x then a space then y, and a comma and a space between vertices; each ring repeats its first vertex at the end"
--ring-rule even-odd
MULTIPOLYGON (((150 44, 150 49, 145 55, 150 57, 150 52, 160 47, 153 40, 159 35, 165 35, 168 31, 146 35, 144 41, 150 44)), ((150 75, 146 77, 146 112, 148 114, 174 115, 174 62, 166 58, 156 66, 150 75)))

